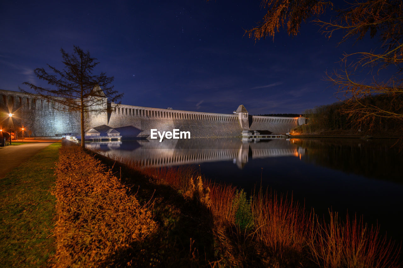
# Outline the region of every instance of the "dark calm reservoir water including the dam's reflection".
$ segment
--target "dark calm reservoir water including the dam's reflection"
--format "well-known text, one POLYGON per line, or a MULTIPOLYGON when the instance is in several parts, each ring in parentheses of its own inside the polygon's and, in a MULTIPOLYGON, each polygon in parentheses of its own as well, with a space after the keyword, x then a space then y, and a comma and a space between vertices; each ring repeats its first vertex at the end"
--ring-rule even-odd
POLYGON ((319 215, 363 215, 403 239, 403 153, 396 140, 194 138, 88 142, 110 158, 147 167, 195 165, 207 178, 251 192, 255 185, 293 194, 319 215), (200 165, 200 166, 199 166, 200 165))

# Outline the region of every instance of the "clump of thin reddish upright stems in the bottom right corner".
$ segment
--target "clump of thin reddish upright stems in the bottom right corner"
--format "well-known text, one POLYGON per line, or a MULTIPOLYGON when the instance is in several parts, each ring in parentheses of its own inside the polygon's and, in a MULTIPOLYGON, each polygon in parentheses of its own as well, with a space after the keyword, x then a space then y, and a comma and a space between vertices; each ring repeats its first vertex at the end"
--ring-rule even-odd
POLYGON ((400 247, 382 237, 379 227, 368 227, 362 218, 341 222, 329 211, 330 221, 313 219, 309 247, 312 259, 321 267, 401 267, 400 247))

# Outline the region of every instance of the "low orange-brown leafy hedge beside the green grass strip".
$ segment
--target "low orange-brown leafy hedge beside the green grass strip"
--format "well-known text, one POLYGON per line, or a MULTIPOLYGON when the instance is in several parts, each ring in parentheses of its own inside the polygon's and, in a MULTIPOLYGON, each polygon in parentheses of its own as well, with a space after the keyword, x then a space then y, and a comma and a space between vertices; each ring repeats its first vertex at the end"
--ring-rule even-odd
POLYGON ((155 231, 147 208, 81 147, 62 146, 56 174, 56 267, 105 266, 155 231))

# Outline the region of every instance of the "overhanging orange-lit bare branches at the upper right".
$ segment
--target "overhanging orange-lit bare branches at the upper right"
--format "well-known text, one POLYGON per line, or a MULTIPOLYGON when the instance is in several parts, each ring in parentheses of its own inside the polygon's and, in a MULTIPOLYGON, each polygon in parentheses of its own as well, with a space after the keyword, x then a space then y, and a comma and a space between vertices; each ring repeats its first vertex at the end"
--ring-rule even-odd
POLYGON ((337 88, 337 96, 345 104, 341 111, 347 113, 357 125, 367 124, 370 129, 380 118, 403 120, 403 4, 401 0, 367 0, 344 2, 329 21, 319 16, 334 8, 330 1, 318 0, 263 0, 267 9, 256 27, 245 31, 255 40, 273 37, 281 28, 289 35, 297 35, 301 23, 312 19, 326 37, 334 31, 343 31, 338 43, 347 39, 359 41, 366 35, 378 38, 378 45, 370 51, 343 54, 341 68, 326 72, 325 79, 337 88), (368 68, 368 69, 367 69, 368 68), (368 71, 372 80, 357 80, 355 74, 368 71), (384 74, 388 72, 388 78, 384 74), (375 101, 383 97, 388 105, 375 101))

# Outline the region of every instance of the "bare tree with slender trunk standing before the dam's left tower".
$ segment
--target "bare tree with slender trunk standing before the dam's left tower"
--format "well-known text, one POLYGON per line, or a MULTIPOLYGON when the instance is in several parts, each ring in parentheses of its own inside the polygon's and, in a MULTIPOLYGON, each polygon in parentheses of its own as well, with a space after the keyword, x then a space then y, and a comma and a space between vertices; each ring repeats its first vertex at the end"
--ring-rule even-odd
MULTIPOLYGON (((35 91, 35 97, 39 95, 42 99, 54 101, 55 109, 65 112, 79 112, 81 121, 81 146, 85 144, 85 122, 88 113, 99 113, 107 111, 107 102, 122 97, 110 86, 114 80, 113 76, 106 76, 104 72, 93 75, 94 68, 99 64, 96 58, 92 58, 89 52, 84 52, 80 47, 74 46, 74 53, 68 54, 63 49, 62 63, 63 70, 58 70, 48 65, 50 72, 44 68, 34 70, 35 75, 48 82, 52 88, 38 87, 30 82, 23 82, 35 91)), ((20 91, 28 94, 19 87, 20 91)))

